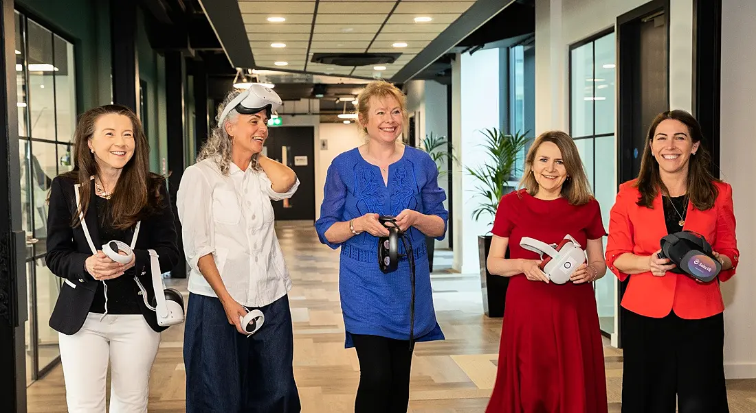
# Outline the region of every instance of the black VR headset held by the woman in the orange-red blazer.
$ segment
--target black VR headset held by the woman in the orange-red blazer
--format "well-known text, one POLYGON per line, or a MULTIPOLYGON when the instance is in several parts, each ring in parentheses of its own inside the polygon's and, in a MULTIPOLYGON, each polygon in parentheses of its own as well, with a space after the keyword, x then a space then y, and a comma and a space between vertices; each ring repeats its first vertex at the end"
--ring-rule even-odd
POLYGON ((687 274, 703 282, 715 279, 722 270, 722 264, 714 257, 711 245, 699 233, 680 231, 669 234, 659 242, 662 252, 659 258, 669 258, 674 267, 672 273, 687 274))

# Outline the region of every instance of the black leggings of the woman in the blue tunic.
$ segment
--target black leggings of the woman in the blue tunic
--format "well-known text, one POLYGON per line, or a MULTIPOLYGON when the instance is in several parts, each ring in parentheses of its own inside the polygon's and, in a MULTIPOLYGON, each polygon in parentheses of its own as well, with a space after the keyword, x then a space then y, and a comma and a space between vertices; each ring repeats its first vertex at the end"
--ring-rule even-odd
POLYGON ((352 334, 360 360, 355 413, 406 413, 410 401, 410 342, 352 334))

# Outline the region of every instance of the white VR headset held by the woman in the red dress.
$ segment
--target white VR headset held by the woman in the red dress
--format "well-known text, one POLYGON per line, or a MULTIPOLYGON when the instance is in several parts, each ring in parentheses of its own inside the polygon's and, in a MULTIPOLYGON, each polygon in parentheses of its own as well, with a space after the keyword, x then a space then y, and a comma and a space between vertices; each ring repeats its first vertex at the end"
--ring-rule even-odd
POLYGON ((541 255, 542 261, 538 267, 555 284, 568 282, 572 273, 585 262, 585 251, 569 234, 559 245, 548 245, 546 242, 524 236, 520 240, 520 246, 541 255), (544 258, 544 254, 548 256, 544 258))

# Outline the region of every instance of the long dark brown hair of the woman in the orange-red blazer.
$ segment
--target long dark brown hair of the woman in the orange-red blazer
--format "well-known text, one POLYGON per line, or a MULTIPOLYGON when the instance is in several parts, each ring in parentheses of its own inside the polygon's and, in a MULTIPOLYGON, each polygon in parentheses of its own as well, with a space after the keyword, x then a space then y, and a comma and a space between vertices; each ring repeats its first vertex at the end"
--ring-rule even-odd
MULTIPOLYGON (((662 182, 662 177, 659 174, 659 164, 651 152, 651 143, 656 134, 656 128, 666 119, 683 122, 688 127, 690 139, 693 143, 702 142, 704 139, 699 122, 684 110, 669 110, 659 113, 654 118, 649 127, 649 133, 646 135, 646 148, 643 149, 643 159, 640 161, 640 173, 635 183, 640 192, 637 205, 645 206, 646 208, 652 208, 658 191, 661 190, 662 194, 669 195, 669 190, 664 182, 662 182)), ((688 179, 686 185, 687 196, 692 205, 699 211, 705 211, 714 207, 714 200, 719 195, 717 186, 714 185, 719 180, 711 174, 710 167, 711 156, 703 145, 699 145, 696 155, 691 155, 688 159, 688 179)))

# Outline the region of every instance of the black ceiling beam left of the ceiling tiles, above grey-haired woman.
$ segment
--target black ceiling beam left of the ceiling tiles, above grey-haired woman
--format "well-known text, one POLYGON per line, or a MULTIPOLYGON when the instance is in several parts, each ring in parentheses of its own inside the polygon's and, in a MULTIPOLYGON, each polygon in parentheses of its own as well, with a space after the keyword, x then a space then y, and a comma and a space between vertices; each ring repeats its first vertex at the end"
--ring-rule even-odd
POLYGON ((256 68, 238 0, 200 0, 200 5, 234 67, 256 68))

